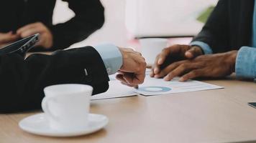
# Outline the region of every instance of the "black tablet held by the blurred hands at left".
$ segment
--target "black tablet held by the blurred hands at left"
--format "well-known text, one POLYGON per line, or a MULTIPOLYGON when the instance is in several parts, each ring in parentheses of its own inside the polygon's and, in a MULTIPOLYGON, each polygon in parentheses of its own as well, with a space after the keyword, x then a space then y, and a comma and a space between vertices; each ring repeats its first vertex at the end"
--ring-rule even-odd
POLYGON ((27 51, 29 51, 29 49, 32 49, 32 47, 35 46, 38 40, 39 34, 35 34, 19 41, 15 41, 14 43, 4 46, 4 48, 0 49, 0 55, 16 53, 25 57, 27 51))

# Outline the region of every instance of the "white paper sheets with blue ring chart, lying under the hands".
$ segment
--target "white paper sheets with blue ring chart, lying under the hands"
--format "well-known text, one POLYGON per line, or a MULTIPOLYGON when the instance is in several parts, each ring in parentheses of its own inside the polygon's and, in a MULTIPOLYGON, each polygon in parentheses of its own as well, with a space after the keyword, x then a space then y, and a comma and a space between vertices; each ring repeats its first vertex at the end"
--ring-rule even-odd
POLYGON ((199 82, 195 80, 189 80, 187 82, 178 82, 178 77, 166 82, 163 79, 155 79, 149 76, 149 72, 146 72, 145 82, 139 86, 139 89, 127 87, 121 84, 118 80, 114 79, 115 75, 109 76, 111 81, 109 82, 109 90, 102 94, 97 94, 91 97, 91 99, 109 99, 116 97, 130 97, 137 94, 145 96, 160 95, 160 94, 173 94, 181 92, 196 92, 210 89, 222 89, 214 84, 208 84, 206 82, 199 82))

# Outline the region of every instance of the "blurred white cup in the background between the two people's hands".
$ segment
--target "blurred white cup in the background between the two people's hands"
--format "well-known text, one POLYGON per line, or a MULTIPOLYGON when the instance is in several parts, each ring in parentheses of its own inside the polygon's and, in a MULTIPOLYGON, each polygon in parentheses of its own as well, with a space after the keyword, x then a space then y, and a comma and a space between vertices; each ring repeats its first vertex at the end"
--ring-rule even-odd
POLYGON ((140 39, 141 53, 145 57, 147 66, 152 66, 155 62, 157 54, 167 46, 168 39, 161 38, 145 38, 140 39))

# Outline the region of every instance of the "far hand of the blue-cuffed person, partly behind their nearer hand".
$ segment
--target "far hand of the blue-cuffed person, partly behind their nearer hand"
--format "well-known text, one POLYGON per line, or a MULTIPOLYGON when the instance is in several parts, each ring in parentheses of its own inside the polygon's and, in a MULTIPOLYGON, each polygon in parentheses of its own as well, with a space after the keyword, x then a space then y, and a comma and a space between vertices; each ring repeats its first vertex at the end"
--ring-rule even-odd
POLYGON ((201 54, 203 54, 203 51, 199 46, 173 45, 165 48, 157 55, 150 77, 156 77, 162 69, 175 61, 193 59, 201 54))

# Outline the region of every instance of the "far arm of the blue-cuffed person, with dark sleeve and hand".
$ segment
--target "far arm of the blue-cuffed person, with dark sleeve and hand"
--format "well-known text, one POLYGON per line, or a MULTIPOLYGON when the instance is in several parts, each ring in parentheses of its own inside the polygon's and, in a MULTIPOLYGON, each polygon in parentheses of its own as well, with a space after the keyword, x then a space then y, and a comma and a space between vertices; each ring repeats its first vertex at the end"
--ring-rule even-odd
POLYGON ((155 59, 150 73, 151 77, 166 77, 173 70, 173 63, 186 59, 193 59, 201 54, 212 54, 225 51, 228 46, 228 3, 220 0, 211 13, 201 32, 193 39, 190 45, 173 45, 165 48, 155 59))

